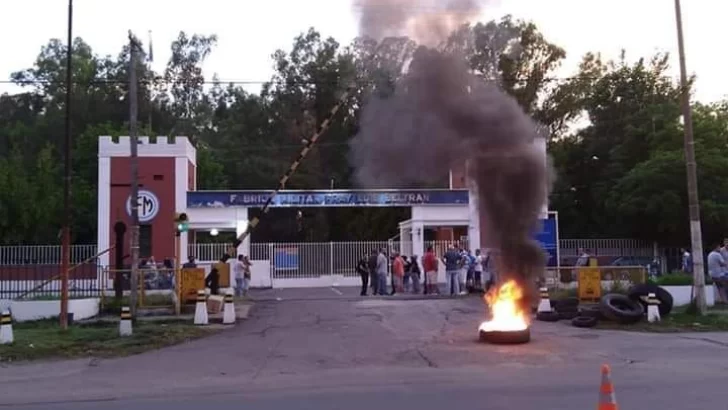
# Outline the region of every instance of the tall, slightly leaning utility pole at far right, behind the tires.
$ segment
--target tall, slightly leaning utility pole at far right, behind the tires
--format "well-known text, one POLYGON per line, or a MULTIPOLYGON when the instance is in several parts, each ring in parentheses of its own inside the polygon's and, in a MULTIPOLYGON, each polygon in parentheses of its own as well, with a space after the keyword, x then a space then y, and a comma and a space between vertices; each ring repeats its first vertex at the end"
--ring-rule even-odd
POLYGON ((688 176, 690 241, 693 248, 693 289, 695 289, 695 307, 700 315, 704 315, 707 311, 707 305, 705 302, 703 233, 700 227, 700 200, 698 197, 697 165, 695 163, 695 141, 693 139, 693 115, 690 107, 690 86, 685 65, 685 44, 680 0, 675 0, 675 23, 677 25, 677 47, 680 56, 680 87, 682 88, 683 127, 685 129, 685 166, 688 176))

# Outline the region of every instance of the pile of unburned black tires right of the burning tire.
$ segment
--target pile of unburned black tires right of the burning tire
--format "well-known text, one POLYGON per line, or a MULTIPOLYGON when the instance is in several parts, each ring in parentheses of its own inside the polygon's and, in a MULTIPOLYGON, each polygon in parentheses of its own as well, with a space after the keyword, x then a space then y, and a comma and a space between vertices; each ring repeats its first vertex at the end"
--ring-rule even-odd
POLYGON ((660 316, 669 315, 673 305, 672 295, 657 285, 644 284, 633 286, 626 295, 608 293, 596 305, 580 307, 577 298, 553 300, 553 311, 540 312, 536 319, 545 322, 571 320, 571 324, 576 327, 594 327, 600 320, 634 324, 644 318, 647 307, 643 299, 650 293, 654 293, 660 301, 660 316))

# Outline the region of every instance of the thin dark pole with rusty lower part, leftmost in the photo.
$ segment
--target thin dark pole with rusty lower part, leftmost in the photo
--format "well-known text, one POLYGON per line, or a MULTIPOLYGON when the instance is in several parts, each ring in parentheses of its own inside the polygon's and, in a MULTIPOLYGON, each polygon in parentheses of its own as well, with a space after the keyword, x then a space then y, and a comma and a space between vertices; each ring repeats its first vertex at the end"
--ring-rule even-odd
POLYGON ((73 75, 73 0, 68 0, 68 47, 66 50, 66 135, 63 169, 63 232, 61 239, 61 329, 68 329, 68 270, 71 267, 71 93, 73 75))

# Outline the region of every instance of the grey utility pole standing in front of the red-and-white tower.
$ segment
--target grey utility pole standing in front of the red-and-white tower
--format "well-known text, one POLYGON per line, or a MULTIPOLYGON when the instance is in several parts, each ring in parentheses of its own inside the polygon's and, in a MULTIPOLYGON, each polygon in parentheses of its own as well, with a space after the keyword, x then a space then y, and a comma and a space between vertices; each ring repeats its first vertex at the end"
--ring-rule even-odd
POLYGON ((131 156, 131 278, 129 280, 129 308, 132 317, 136 317, 137 293, 139 291, 139 157, 137 135, 137 75, 136 49, 138 45, 134 35, 129 31, 129 143, 131 156))

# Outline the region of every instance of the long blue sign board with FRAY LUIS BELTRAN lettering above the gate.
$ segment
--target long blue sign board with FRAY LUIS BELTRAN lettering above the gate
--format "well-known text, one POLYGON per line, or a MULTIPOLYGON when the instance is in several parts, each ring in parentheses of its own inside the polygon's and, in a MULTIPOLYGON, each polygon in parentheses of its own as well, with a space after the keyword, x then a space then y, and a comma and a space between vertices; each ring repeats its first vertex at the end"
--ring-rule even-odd
MULTIPOLYGON (((190 191, 188 208, 261 207, 272 191, 190 191)), ((272 207, 466 205, 467 190, 280 191, 272 207)))

